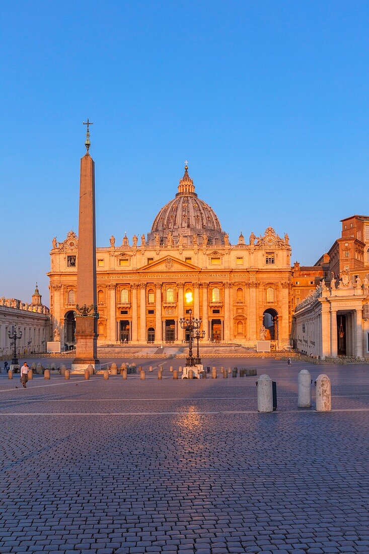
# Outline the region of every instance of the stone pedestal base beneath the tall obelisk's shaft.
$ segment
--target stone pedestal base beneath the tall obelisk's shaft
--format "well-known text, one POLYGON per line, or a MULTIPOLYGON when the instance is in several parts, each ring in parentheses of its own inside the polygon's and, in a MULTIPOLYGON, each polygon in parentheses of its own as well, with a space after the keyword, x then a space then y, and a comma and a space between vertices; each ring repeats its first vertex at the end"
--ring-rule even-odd
POLYGON ((98 360, 98 335, 95 332, 97 320, 91 316, 76 317, 75 338, 76 357, 71 366, 73 373, 84 373, 89 365, 94 371, 100 370, 98 360))

